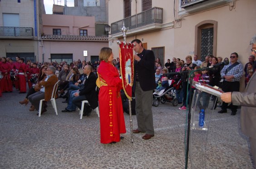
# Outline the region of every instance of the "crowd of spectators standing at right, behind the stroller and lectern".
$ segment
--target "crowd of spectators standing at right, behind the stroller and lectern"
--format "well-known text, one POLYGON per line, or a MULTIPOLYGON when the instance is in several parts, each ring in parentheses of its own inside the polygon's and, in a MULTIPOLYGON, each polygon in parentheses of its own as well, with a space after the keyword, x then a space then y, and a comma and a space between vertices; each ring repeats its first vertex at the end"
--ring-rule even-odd
MULTIPOLYGON (((231 53, 230 59, 225 58, 224 61, 226 61, 226 65, 216 66, 212 69, 209 69, 207 71, 200 71, 196 72, 194 76, 194 81, 201 81, 201 83, 209 84, 212 87, 218 86, 221 87, 224 92, 230 92, 230 91, 239 91, 240 89, 240 80, 243 74, 245 75, 245 85, 250 80, 254 70, 255 70, 255 56, 251 55, 249 56, 248 60, 249 62, 246 63, 246 66, 243 69, 242 64, 238 61, 238 54, 236 52, 231 53), (243 72, 244 71, 244 72, 243 72), (203 80, 203 78, 206 78, 207 80, 203 80)), ((179 108, 181 110, 187 109, 187 84, 188 84, 188 73, 184 74, 177 74, 177 75, 168 75, 170 72, 183 72, 187 70, 196 70, 203 67, 208 66, 214 66, 218 63, 221 63, 223 60, 222 57, 216 57, 213 55, 209 55, 205 57, 205 61, 198 60, 198 56, 194 55, 193 60, 192 56, 186 56, 186 62, 183 63, 182 61, 179 61, 179 59, 173 57, 172 62, 170 62, 170 59, 167 60, 167 62, 164 64, 166 68, 159 68, 155 66, 155 81, 157 87, 157 93, 160 89, 163 89, 162 83, 164 81, 163 76, 167 76, 168 79, 171 80, 181 80, 182 85, 179 86, 179 88, 175 88, 176 97, 178 99, 178 104, 182 104, 182 106, 179 108), (161 74, 161 70, 163 74, 161 74), (165 71, 163 71, 165 70, 165 71)), ((156 59, 155 65, 161 65, 159 58, 156 59)), ((166 86, 166 85, 165 85, 166 86)), ((168 88, 169 86, 166 86, 165 88, 168 88)), ((192 88, 193 89, 193 88, 192 88)), ((213 98, 212 98, 213 99, 213 98)), ((216 104, 212 107, 212 109, 215 109, 217 106, 216 104)), ((234 106, 231 104, 229 106, 231 108, 231 115, 236 115, 237 106, 234 106)), ((227 103, 222 104, 222 110, 220 110, 218 113, 226 113, 227 112, 227 103)))

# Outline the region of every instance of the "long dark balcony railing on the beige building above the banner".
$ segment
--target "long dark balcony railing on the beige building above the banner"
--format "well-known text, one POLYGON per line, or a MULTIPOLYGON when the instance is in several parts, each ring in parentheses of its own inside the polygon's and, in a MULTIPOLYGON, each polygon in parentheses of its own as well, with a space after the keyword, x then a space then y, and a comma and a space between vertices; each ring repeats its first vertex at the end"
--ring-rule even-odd
POLYGON ((111 34, 120 33, 120 29, 123 28, 123 23, 129 30, 152 23, 162 23, 162 12, 162 8, 154 7, 142 13, 111 23, 111 34))

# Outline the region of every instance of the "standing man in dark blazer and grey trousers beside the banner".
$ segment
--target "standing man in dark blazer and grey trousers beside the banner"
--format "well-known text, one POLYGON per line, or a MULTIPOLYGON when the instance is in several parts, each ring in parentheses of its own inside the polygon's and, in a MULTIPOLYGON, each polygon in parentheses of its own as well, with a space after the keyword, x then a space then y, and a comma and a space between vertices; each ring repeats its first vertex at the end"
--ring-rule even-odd
POLYGON ((134 83, 136 116, 138 129, 133 133, 146 132, 142 138, 148 140, 154 136, 153 127, 153 89, 156 88, 155 82, 155 56, 153 51, 143 49, 142 42, 134 39, 132 43, 135 45, 133 50, 137 53, 134 58, 134 83))

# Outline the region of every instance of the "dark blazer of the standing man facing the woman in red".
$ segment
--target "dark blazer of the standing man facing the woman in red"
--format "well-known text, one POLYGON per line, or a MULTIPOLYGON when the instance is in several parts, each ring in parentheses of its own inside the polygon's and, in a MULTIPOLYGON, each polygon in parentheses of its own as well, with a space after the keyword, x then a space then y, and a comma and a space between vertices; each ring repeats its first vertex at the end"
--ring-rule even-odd
MULTIPOLYGON (((155 55, 151 50, 145 50, 138 54, 140 61, 134 61, 134 81, 136 82, 136 71, 138 71, 139 84, 143 91, 156 89, 155 81, 155 55)), ((135 85, 133 85, 135 89, 135 85)))

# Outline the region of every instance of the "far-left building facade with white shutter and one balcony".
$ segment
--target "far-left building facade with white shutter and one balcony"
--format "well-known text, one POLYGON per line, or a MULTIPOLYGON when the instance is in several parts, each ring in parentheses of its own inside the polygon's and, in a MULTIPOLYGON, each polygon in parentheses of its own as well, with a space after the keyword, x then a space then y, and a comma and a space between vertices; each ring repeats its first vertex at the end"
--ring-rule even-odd
POLYGON ((0 56, 38 59, 40 0, 0 1, 0 56))

